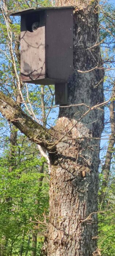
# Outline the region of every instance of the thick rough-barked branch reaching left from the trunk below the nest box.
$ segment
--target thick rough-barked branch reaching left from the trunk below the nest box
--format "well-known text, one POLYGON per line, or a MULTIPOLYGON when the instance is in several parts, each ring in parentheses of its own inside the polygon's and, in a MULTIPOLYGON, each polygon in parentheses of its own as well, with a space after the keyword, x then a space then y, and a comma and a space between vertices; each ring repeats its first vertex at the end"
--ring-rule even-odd
POLYGON ((51 140, 48 129, 38 124, 16 104, 16 102, 0 92, 0 112, 12 124, 14 124, 28 139, 47 148, 51 140))

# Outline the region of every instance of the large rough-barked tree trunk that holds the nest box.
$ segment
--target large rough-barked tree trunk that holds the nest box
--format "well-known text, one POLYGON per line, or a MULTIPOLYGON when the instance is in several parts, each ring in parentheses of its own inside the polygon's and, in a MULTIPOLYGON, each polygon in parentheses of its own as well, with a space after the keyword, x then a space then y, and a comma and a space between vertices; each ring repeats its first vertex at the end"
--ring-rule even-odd
MULTIPOLYGON (((96 4, 93 1, 74 13, 74 74, 68 83, 68 105, 84 103, 91 107, 103 102, 96 4)), ((85 105, 60 108, 54 127, 58 139, 63 139, 50 154, 48 256, 98 255, 96 212, 104 113, 94 109, 85 115, 88 109, 85 105)))

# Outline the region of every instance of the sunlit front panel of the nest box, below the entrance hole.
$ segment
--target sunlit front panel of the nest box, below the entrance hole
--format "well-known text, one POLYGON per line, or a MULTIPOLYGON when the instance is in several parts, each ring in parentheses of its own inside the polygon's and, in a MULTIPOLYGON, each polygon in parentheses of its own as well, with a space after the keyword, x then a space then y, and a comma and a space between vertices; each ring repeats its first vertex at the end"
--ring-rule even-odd
POLYGON ((21 77, 23 82, 34 83, 45 78, 45 25, 28 31, 28 20, 29 16, 27 20, 26 16, 21 17, 21 77))

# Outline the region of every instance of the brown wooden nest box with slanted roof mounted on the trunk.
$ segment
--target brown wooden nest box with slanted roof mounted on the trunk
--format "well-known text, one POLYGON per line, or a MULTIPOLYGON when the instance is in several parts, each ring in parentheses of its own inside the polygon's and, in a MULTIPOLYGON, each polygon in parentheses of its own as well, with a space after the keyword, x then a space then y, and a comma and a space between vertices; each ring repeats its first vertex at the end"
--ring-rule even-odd
MULTIPOLYGON (((56 91, 58 86, 60 90, 63 86, 64 93, 66 83, 73 76, 73 9, 71 6, 39 7, 12 13, 21 16, 20 69, 23 82, 55 84, 56 91)), ((60 97, 58 94, 56 101, 60 97)), ((62 101, 67 101, 67 92, 62 98, 66 98, 62 101)))

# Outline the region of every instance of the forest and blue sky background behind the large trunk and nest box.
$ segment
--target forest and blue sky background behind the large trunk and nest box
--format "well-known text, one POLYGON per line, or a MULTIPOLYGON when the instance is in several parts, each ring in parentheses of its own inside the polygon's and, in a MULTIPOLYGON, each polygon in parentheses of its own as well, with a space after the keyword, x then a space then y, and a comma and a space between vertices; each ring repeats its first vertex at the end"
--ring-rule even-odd
MULTIPOLYGON (((20 19, 8 11, 51 6, 50 1, 9 0, 0 3, 0 90, 11 95, 23 110, 44 127, 55 124, 54 86, 21 83, 20 19), (21 94, 20 94, 21 90, 21 94)), ((115 4, 100 1, 100 45, 105 69, 105 122, 100 145, 98 255, 115 255, 115 4)), ((40 256, 49 221, 48 162, 37 144, 30 142, 0 114, 0 256, 40 256)), ((90 223, 89 223, 90 224, 90 223)))

